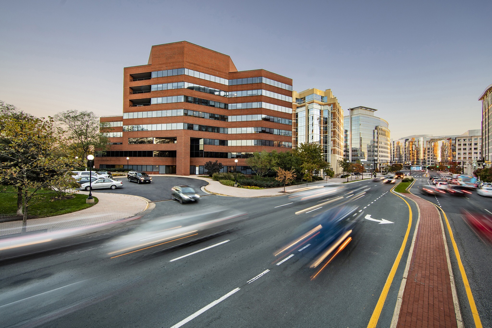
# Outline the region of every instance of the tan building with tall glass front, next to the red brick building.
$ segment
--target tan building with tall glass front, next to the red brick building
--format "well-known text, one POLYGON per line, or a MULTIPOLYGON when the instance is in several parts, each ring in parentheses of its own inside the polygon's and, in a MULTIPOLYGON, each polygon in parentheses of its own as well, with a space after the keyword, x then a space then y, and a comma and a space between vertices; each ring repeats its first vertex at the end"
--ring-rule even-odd
POLYGON ((320 144, 323 156, 335 175, 341 174, 338 160, 343 158, 343 110, 331 89, 292 92, 292 143, 320 144))

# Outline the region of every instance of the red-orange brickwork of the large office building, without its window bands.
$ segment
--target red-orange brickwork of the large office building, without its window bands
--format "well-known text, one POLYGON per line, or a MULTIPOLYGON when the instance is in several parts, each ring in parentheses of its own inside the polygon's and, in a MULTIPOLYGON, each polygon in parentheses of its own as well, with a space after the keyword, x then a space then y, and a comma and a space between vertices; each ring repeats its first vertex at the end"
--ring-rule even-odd
MULTIPOLYGON (((148 101, 150 98, 157 97, 169 97, 169 96, 185 96, 195 97, 200 99, 211 100, 215 102, 221 102, 225 104, 235 103, 251 103, 251 102, 264 102, 272 105, 292 108, 291 101, 284 101, 276 99, 266 95, 251 95, 243 97, 227 97, 221 96, 209 92, 203 92, 194 89, 164 89, 153 91, 139 91, 142 93, 132 92, 132 88, 142 87, 141 89, 150 89, 152 85, 169 84, 169 83, 192 83, 198 86, 213 88, 217 90, 223 90, 226 92, 240 91, 240 90, 256 90, 263 89, 271 92, 275 92, 280 95, 292 97, 292 91, 280 87, 275 87, 267 83, 246 83, 240 85, 229 85, 229 80, 232 79, 245 79, 263 77, 266 79, 277 81, 281 84, 292 86, 292 79, 284 76, 263 70, 249 70, 249 71, 237 71, 236 66, 232 62, 231 58, 227 55, 217 53, 215 51, 194 45, 189 42, 176 42, 169 44, 156 45, 152 47, 149 62, 147 65, 125 67, 123 69, 123 114, 132 112, 145 112, 145 111, 164 111, 164 110, 193 110, 203 113, 212 113, 224 116, 238 116, 238 115, 267 115, 282 119, 292 119, 291 113, 285 113, 281 111, 265 109, 265 108, 248 108, 248 109, 223 109, 216 108, 207 105, 190 103, 184 100, 184 102, 174 103, 157 103, 145 106, 132 106, 134 100, 144 99, 142 102, 148 101), (206 79, 180 74, 174 76, 165 77, 150 77, 151 72, 170 70, 170 69, 188 69, 198 71, 200 73, 210 74, 218 78, 222 78, 226 81, 226 84, 212 82, 206 79), (148 73, 148 74, 147 74, 148 73), (137 80, 137 81, 134 81, 137 80)), ((140 89, 138 89, 140 90, 140 89)), ((292 126, 289 124, 277 123, 266 120, 246 120, 246 121, 222 121, 216 119, 206 119, 192 116, 168 116, 168 117, 152 117, 152 118, 128 118, 123 119, 123 116, 119 117, 101 117, 101 122, 111 121, 123 121, 123 126, 137 125, 137 124, 163 124, 163 123, 188 123, 188 124, 201 124, 222 128, 236 128, 236 127, 264 127, 271 129, 280 129, 292 131, 292 126)), ((269 133, 216 133, 196 131, 189 129, 174 129, 174 130, 152 130, 152 131, 124 131, 123 127, 113 127, 112 132, 122 132, 123 137, 111 137, 110 143, 112 143, 107 150, 175 150, 176 158, 174 157, 130 157, 128 160, 129 165, 175 165, 176 174, 189 175, 190 166, 201 166, 205 162, 217 159, 224 166, 234 166, 233 158, 210 158, 210 157, 191 157, 190 158, 190 141, 191 138, 207 138, 207 139, 219 139, 219 140, 271 140, 279 142, 291 143, 292 137, 286 135, 277 135, 269 133), (166 138, 176 137, 176 143, 170 144, 128 144, 128 138, 166 138), (113 144, 121 143, 121 145, 113 144)), ((283 147, 267 147, 267 146, 212 146, 203 145, 203 151, 218 151, 218 152, 232 152, 232 153, 245 153, 253 151, 261 151, 266 149, 267 151, 277 150, 285 151, 290 148, 283 147)), ((238 166, 246 166, 245 158, 237 158, 238 166)), ((126 157, 101 157, 95 158, 95 167, 99 168, 100 165, 113 166, 113 165, 126 165, 126 157)), ((156 172, 154 172, 156 173, 156 172)))

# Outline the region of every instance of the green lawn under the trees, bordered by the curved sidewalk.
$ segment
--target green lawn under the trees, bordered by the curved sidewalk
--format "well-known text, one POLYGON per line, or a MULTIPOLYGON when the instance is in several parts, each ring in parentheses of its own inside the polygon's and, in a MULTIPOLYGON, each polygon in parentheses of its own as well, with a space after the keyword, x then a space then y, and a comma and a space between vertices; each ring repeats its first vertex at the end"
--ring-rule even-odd
MULTIPOLYGON (((3 187, 0 187, 3 190, 3 187)), ((8 187, 8 190, 13 190, 12 187, 8 187)), ((71 199, 63 199, 51 201, 51 195, 39 195, 36 199, 36 203, 29 207, 29 218, 45 217, 60 215, 65 213, 74 212, 80 209, 87 209, 93 204, 86 204, 87 195, 75 195, 71 199), (40 202, 37 202, 39 200, 40 202)), ((98 199, 94 197, 94 204, 97 204, 98 199)), ((15 216, 17 212, 17 194, 10 194, 0 192, 0 217, 1 216, 15 216)))

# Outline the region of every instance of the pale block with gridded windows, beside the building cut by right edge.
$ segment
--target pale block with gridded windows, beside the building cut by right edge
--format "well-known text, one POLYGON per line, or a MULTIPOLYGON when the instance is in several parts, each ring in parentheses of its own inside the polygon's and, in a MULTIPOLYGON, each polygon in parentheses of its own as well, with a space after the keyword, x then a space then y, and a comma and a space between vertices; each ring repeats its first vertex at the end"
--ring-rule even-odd
POLYGON ((456 138, 456 162, 464 174, 472 174, 482 159, 482 130, 468 130, 456 138))

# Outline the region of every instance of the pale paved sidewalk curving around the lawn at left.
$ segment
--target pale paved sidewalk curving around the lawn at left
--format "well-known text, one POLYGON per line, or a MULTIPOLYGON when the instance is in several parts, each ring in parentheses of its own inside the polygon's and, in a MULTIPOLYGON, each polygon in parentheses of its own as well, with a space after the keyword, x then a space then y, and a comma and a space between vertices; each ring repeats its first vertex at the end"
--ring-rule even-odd
MULTIPOLYGON (((79 191, 79 193, 88 194, 85 191, 79 191)), ((149 206, 145 199, 137 196, 111 193, 97 193, 94 196, 99 202, 88 209, 57 216, 29 219, 27 231, 48 229, 48 232, 51 232, 107 223, 136 215, 149 206)), ((21 231, 22 221, 0 223, 0 236, 16 234, 21 231)))

